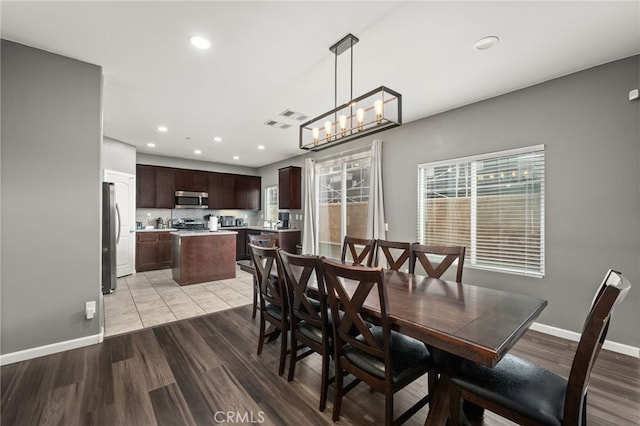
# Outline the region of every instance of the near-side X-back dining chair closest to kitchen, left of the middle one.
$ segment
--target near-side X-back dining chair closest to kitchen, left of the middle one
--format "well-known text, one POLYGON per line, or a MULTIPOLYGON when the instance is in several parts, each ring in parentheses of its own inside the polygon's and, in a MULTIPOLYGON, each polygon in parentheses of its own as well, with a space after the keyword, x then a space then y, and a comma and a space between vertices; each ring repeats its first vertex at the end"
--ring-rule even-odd
POLYGON ((256 271, 260 296, 260 337, 258 355, 262 354, 265 339, 272 341, 279 335, 280 364, 278 374, 284 373, 287 358, 287 335, 289 332, 289 297, 284 284, 282 266, 277 247, 263 247, 249 244, 251 259, 256 271), (274 276, 276 277, 274 279, 274 276), (272 328, 267 332, 266 325, 272 328))

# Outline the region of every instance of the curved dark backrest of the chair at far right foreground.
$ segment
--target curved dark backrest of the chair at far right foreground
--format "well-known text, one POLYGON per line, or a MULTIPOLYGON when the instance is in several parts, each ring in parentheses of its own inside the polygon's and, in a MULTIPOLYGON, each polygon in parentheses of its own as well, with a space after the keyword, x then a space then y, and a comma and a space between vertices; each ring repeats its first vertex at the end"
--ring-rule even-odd
POLYGON ((571 364, 563 424, 586 424, 583 416, 591 369, 607 337, 613 308, 625 298, 630 288, 629 280, 619 272, 609 270, 596 292, 571 364))

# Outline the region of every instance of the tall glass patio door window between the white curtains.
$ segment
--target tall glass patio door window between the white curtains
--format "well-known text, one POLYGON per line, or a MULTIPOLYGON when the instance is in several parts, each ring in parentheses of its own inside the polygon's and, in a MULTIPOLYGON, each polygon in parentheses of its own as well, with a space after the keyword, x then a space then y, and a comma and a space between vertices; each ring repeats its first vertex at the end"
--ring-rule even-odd
POLYGON ((339 259, 345 235, 366 238, 371 153, 316 163, 317 253, 339 259))

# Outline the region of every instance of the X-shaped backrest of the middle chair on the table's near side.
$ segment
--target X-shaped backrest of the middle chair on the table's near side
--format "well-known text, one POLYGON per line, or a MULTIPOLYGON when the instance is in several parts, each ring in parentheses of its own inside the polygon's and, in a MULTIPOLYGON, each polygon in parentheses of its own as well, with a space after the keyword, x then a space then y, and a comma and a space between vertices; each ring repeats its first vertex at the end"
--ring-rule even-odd
POLYGON ((284 250, 278 252, 284 272, 285 283, 291 301, 292 325, 298 321, 322 329, 323 336, 327 336, 327 296, 324 284, 324 271, 320 257, 313 255, 297 255, 284 250), (318 301, 309 297, 307 287, 312 280, 316 280, 318 287, 318 301))

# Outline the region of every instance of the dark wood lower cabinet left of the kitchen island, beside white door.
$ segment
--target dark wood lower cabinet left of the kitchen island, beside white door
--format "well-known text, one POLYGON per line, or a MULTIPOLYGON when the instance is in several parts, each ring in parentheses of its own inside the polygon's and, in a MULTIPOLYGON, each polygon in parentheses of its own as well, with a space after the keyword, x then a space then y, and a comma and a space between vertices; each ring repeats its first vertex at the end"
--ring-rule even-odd
POLYGON ((136 272, 171 268, 173 248, 171 232, 138 232, 136 234, 136 272))

